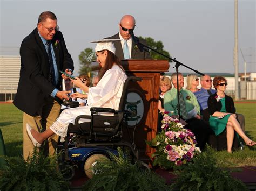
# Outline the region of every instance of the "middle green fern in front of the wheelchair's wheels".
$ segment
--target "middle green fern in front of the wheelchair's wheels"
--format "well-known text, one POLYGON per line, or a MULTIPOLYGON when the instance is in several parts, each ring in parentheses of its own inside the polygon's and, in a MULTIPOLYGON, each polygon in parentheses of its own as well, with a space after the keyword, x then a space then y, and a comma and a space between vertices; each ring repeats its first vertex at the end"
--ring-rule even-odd
MULTIPOLYGON (((93 167, 93 178, 85 183, 83 190, 166 190, 165 180, 139 162, 131 160, 118 147, 119 155, 110 154, 111 160, 101 160, 93 167)), ((169 188, 170 189, 170 188, 169 188)))

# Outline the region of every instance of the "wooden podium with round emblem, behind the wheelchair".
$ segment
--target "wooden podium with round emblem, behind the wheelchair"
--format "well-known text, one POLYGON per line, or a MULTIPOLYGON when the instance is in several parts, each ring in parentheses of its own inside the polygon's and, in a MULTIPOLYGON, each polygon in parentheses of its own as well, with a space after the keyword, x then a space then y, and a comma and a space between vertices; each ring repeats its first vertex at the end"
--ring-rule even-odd
MULTIPOLYGON (((92 65, 92 70, 97 70, 98 65, 92 65)), ((158 124, 158 97, 160 72, 169 69, 167 60, 122 60, 122 66, 128 76, 141 77, 142 82, 132 82, 129 85, 126 109, 132 111, 129 118, 129 133, 124 128, 124 139, 132 137, 140 151, 140 155, 150 156, 153 148, 146 145, 145 140, 156 136, 158 124)))

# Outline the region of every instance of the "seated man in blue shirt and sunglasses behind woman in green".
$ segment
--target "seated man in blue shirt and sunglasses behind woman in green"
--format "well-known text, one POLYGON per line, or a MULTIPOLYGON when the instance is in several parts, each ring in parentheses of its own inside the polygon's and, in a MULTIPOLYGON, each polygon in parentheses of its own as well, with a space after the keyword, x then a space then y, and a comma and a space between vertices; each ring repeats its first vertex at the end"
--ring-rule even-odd
MULTIPOLYGON (((212 89, 212 79, 209 75, 205 74, 205 76, 201 76, 200 78, 201 89, 200 91, 194 92, 194 95, 197 98, 197 101, 200 105, 201 115, 203 115, 203 119, 208 122, 209 114, 208 114, 208 97, 212 94, 216 93, 215 89, 212 89)), ((242 114, 237 114, 237 119, 241 125, 242 131, 245 132, 245 117, 242 114)))

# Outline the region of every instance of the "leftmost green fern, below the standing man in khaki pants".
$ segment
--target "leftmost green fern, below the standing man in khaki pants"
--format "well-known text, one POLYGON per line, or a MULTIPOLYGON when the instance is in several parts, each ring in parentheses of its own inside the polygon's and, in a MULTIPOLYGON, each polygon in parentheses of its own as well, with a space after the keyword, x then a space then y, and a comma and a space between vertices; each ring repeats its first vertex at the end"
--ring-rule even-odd
POLYGON ((6 165, 0 168, 0 190, 62 190, 68 188, 57 170, 57 157, 45 157, 36 147, 27 160, 1 156, 6 165))

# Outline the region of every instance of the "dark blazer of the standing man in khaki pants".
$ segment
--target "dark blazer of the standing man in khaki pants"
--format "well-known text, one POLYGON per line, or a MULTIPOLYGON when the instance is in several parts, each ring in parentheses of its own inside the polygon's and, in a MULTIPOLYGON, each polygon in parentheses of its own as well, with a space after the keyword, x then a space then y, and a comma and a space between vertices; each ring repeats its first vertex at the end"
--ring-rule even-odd
MULTIPOLYGON (((73 60, 66 49, 60 31, 56 32, 52 39, 52 45, 58 70, 67 68, 73 70, 73 60)), ((37 116, 41 114, 44 102, 53 100, 50 96, 53 89, 61 89, 61 75, 59 75, 59 84, 56 87, 48 81, 48 54, 39 37, 37 28, 22 41, 20 54, 21 71, 14 105, 26 114, 37 116)))

